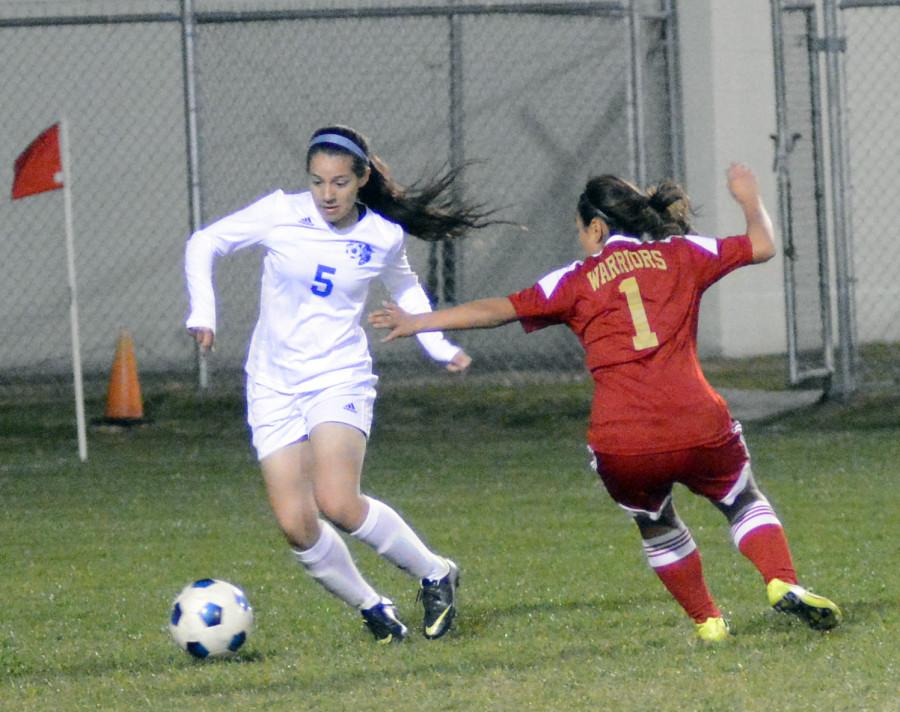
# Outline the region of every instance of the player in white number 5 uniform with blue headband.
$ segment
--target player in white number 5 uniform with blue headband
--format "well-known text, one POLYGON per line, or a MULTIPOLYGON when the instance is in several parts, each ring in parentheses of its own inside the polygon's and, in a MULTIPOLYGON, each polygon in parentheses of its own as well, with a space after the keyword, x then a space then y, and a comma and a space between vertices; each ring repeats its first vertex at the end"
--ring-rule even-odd
MULTIPOLYGON (((402 640, 407 628, 390 599, 362 577, 331 524, 421 580, 423 631, 439 638, 456 615, 456 564, 432 552, 391 507, 360 491, 377 380, 360 318, 375 278, 407 311, 430 311, 407 261, 404 230, 435 240, 490 221, 478 207, 454 207, 452 171, 420 191, 406 190, 365 138, 344 126, 313 134, 306 168, 308 192, 275 191, 191 236, 187 328, 202 350, 213 346, 214 260, 261 247, 247 419, 278 524, 298 562, 357 608, 379 642, 402 640)), ((440 333, 420 341, 450 371, 471 362, 440 333)))

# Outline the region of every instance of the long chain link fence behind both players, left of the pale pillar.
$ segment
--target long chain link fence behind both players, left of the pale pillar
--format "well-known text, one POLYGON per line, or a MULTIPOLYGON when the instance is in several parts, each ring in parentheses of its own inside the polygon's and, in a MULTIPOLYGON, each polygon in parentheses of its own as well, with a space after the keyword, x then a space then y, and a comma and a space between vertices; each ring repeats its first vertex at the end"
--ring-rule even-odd
MULTIPOLYGON (((527 231, 495 226, 451 247, 411 238, 410 259, 437 303, 506 294, 577 257, 574 202, 589 171, 679 175, 670 5, 4 3, 0 184, 65 116, 88 377, 107 371, 122 328, 142 372, 194 370, 187 235, 276 188, 304 189, 306 142, 326 123, 361 130, 404 183, 475 161, 465 197, 527 231)), ((62 191, 3 211, 0 379, 68 383, 62 191)), ((242 365, 259 260, 217 265, 213 382, 242 365)), ((482 372, 580 370, 565 330, 504 329, 459 336, 482 372)), ((382 370, 440 373, 414 342, 371 341, 382 370)))

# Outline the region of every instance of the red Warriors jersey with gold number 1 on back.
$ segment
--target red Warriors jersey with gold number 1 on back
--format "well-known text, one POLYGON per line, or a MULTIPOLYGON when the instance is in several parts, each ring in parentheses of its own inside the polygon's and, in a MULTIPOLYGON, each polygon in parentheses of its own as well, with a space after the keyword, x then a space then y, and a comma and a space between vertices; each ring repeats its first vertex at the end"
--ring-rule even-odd
POLYGON ((746 235, 614 235, 599 254, 509 296, 525 331, 566 324, 581 341, 594 450, 669 452, 731 435, 728 407, 700 369, 697 321, 703 292, 752 257, 746 235))

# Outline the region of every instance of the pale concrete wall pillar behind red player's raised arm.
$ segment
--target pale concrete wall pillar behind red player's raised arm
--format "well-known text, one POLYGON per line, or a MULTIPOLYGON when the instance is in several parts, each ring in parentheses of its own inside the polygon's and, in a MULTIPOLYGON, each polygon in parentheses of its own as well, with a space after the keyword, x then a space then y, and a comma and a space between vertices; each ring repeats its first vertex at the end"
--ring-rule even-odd
MULTIPOLYGON (((699 232, 743 231, 725 186, 731 161, 756 172, 776 222, 772 171, 775 91, 769 3, 678 3, 684 112, 685 182, 701 215, 699 232)), ((780 247, 780 238, 778 240, 780 247)), ((747 356, 786 348, 782 257, 729 275, 706 295, 700 319, 705 355, 747 356)))

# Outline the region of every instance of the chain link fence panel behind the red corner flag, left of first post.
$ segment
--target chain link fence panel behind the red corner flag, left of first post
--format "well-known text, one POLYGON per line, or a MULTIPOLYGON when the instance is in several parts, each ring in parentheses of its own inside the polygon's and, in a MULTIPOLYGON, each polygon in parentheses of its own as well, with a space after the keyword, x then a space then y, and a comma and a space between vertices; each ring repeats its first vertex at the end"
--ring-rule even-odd
POLYGON ((63 192, 8 197, 16 155, 62 117, 86 370, 108 370, 121 328, 148 367, 190 369, 179 324, 189 223, 178 14, 159 12, 163 3, 68 3, 51 16, 62 5, 0 8, 0 378, 71 381, 63 192))

